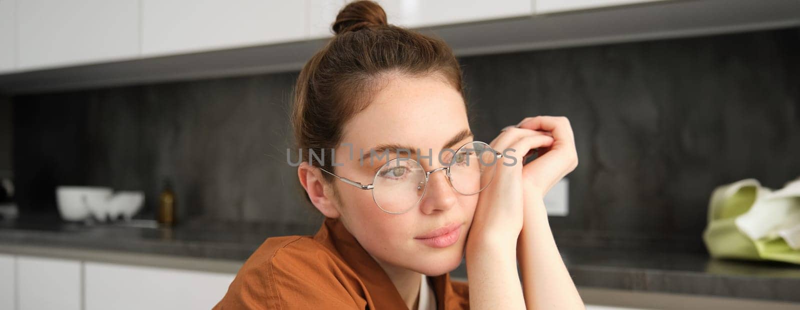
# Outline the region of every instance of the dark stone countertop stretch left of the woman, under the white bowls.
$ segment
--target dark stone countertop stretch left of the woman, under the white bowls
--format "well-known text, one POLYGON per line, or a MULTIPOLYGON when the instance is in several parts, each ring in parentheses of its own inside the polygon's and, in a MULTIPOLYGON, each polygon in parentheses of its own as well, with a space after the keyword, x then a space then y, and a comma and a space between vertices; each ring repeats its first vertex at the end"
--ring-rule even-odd
POLYGON ((0 244, 102 249, 243 262, 267 237, 313 234, 317 229, 302 225, 204 221, 173 228, 6 221, 0 222, 0 244))

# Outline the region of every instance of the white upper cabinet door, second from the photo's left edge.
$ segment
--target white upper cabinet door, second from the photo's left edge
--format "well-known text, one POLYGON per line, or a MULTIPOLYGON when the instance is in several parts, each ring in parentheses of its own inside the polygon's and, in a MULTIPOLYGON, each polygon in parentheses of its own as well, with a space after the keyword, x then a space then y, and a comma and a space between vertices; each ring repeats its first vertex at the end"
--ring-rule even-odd
POLYGON ((138 0, 15 1, 21 69, 138 56, 138 0))

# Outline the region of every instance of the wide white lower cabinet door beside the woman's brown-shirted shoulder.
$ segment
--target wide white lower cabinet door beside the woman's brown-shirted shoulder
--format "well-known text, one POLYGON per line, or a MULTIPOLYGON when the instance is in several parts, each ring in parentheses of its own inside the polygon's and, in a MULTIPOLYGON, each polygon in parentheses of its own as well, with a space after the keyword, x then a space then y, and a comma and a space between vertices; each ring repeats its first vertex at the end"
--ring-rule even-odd
POLYGON ((86 310, 210 309, 234 274, 86 262, 86 310))

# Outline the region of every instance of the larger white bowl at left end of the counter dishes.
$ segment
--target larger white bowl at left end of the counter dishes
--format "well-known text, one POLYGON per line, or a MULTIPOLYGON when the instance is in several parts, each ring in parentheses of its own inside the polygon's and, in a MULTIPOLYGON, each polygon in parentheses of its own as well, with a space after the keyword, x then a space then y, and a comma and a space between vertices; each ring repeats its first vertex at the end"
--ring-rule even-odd
POLYGON ((92 186, 58 186, 56 200, 58 212, 64 221, 83 221, 93 213, 95 217, 105 218, 106 204, 111 197, 111 189, 92 186))

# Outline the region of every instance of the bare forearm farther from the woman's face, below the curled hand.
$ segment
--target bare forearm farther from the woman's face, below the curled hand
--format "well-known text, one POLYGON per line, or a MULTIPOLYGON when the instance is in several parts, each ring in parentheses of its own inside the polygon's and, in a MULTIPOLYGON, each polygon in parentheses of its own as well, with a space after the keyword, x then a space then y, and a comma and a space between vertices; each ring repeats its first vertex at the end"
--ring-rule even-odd
POLYGON ((526 193, 525 200, 517 256, 527 308, 585 308, 558 253, 542 197, 526 193))

